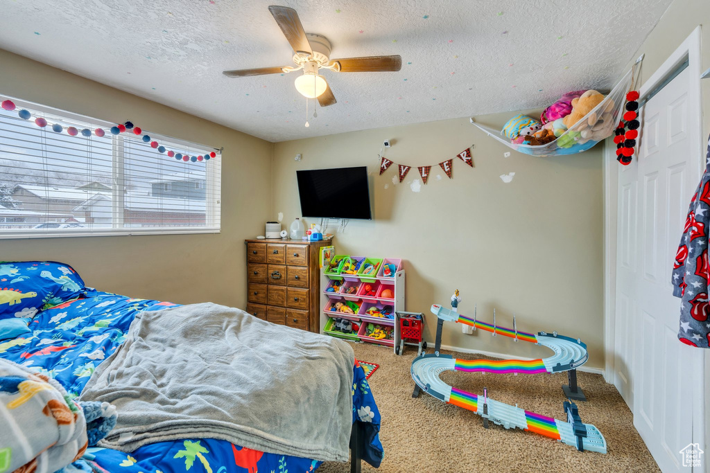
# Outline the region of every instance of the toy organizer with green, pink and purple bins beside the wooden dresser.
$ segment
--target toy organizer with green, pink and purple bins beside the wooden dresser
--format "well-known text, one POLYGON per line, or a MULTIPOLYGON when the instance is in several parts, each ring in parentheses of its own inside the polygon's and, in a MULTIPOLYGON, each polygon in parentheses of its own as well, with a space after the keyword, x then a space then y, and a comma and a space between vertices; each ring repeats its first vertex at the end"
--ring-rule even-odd
POLYGON ((399 340, 400 327, 395 323, 395 311, 405 310, 405 272, 399 258, 375 258, 351 255, 336 255, 338 262, 321 271, 321 333, 345 340, 375 343, 392 347, 399 340), (357 271, 354 267, 359 265, 357 271), (376 270, 366 274, 367 264, 377 265, 376 270), (348 272, 349 271, 349 272, 348 272), (386 275, 389 274, 389 275, 386 275), (349 306, 354 313, 332 311, 337 303, 349 306), (372 316, 368 311, 391 311, 392 318, 372 316), (334 328, 334 319, 351 321, 356 333, 342 333, 334 328), (392 333, 391 340, 366 336, 369 323, 379 325, 392 333))

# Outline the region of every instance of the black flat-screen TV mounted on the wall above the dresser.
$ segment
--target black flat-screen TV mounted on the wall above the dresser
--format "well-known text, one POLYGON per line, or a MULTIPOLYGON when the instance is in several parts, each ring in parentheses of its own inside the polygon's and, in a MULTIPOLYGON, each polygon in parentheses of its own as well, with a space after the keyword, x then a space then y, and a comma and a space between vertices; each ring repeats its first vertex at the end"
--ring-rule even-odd
POLYGON ((366 166, 296 171, 296 179, 302 216, 372 218, 366 166))

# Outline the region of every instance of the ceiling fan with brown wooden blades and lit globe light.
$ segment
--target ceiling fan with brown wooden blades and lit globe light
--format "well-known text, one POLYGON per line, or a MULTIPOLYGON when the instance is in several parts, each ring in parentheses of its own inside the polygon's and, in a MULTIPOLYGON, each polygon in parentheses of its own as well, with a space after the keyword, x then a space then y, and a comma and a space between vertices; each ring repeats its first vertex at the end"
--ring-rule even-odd
POLYGON ((256 69, 236 69, 224 71, 226 77, 249 77, 263 74, 280 74, 303 69, 303 75, 296 78, 296 90, 308 99, 318 99, 320 106, 335 104, 335 96, 325 77, 318 74, 319 69, 331 69, 336 72, 396 72, 402 69, 402 57, 369 56, 330 59, 330 41, 323 35, 305 33, 298 13, 288 6, 270 6, 269 11, 280 26, 295 55, 296 67, 259 67, 256 69))

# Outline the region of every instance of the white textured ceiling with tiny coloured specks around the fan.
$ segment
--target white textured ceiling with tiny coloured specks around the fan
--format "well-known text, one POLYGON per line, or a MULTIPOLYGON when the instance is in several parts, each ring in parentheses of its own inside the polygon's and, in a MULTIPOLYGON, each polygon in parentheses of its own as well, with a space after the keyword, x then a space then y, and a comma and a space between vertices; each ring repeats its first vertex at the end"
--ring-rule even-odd
POLYGON ((535 108, 568 90, 610 88, 670 3, 0 0, 0 48, 282 141, 535 108), (329 38, 333 58, 399 54, 402 70, 324 70, 338 103, 317 108, 305 128, 298 72, 222 75, 292 65, 269 4, 295 8, 307 32, 329 38))

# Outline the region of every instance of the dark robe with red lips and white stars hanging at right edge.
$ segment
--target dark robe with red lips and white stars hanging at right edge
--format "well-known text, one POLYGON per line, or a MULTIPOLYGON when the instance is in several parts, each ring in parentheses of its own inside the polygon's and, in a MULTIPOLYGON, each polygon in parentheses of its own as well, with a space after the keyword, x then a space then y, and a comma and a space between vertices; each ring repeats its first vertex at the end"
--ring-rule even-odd
POLYGON ((672 276, 673 295, 681 299, 678 338, 682 343, 701 348, 710 347, 709 231, 710 138, 706 169, 690 201, 672 276))

